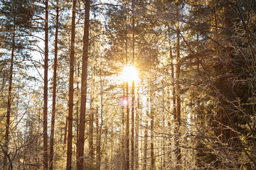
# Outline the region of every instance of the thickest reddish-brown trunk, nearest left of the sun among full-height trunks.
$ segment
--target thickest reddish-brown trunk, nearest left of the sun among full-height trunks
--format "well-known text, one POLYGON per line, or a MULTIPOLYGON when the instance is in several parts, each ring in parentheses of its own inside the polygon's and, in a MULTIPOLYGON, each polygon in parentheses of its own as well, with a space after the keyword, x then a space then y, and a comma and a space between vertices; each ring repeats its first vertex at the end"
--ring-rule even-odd
POLYGON ((85 26, 83 37, 83 52, 82 52, 82 83, 81 83, 81 103, 80 103, 80 121, 78 135, 78 162, 77 169, 82 169, 84 160, 85 147, 85 112, 87 100, 87 62, 88 62, 88 47, 89 47, 89 21, 90 21, 90 0, 85 1, 85 26))

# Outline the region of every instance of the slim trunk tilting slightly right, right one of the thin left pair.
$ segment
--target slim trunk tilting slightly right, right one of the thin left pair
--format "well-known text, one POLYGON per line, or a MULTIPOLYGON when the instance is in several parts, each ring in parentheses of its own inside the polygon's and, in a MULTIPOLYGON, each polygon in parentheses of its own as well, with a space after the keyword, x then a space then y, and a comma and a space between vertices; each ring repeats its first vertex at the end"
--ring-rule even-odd
POLYGON ((57 57, 58 57, 58 17, 59 17, 59 6, 57 0, 57 11, 56 11, 56 30, 55 30, 55 50, 54 50, 54 68, 53 68, 53 108, 52 108, 52 118, 50 126, 50 159, 49 159, 49 169, 53 169, 53 143, 54 143, 54 125, 55 125, 55 105, 56 105, 56 81, 57 81, 57 57))

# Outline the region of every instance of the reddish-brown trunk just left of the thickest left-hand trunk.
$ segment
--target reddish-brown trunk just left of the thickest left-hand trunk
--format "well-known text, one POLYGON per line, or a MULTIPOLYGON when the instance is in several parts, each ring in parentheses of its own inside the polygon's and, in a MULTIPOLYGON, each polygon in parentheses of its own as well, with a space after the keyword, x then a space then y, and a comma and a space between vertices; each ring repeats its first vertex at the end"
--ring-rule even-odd
POLYGON ((75 6, 73 0, 72 23, 71 23, 71 49, 70 49, 70 79, 68 90, 68 149, 67 149, 67 169, 72 166, 72 138, 73 138, 73 103, 74 103, 74 60, 75 60, 75 6))

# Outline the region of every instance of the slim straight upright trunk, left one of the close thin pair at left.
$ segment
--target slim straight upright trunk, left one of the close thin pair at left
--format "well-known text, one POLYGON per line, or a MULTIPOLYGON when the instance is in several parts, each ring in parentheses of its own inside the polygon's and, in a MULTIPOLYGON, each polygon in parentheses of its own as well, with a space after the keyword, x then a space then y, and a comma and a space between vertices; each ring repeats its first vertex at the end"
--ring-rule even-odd
POLYGON ((47 135, 47 109, 48 109, 48 0, 46 0, 46 26, 45 26, 45 61, 44 61, 44 87, 43 87, 43 169, 48 169, 48 135, 47 135))

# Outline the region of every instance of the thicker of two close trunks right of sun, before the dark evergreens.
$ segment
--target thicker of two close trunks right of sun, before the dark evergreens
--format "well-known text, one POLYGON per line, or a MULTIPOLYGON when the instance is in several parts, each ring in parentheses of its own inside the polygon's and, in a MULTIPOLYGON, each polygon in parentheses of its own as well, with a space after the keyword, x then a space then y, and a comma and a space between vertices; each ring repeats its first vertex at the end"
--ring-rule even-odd
POLYGON ((176 169, 181 169, 181 148, 179 147, 180 145, 180 138, 181 138, 181 132, 180 132, 180 127, 181 127, 181 87, 179 84, 179 76, 180 76, 180 35, 179 35, 179 28, 177 28, 177 66, 176 66, 176 84, 177 84, 177 110, 176 110, 176 132, 177 136, 176 137, 176 169))

